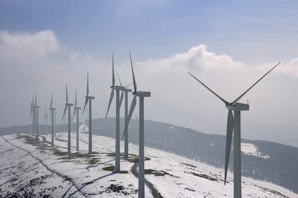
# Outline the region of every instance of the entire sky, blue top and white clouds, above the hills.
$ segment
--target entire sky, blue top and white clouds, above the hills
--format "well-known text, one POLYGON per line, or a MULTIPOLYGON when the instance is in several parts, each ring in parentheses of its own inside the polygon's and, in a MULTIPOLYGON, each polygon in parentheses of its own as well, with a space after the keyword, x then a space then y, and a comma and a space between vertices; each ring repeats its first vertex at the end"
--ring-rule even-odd
POLYGON ((105 117, 112 53, 128 85, 130 50, 138 89, 151 90, 145 119, 213 134, 226 133, 227 109, 187 72, 232 102, 282 62, 239 101, 250 105, 241 137, 298 147, 297 7, 295 0, 1 0, 0 127, 32 123, 35 91, 40 122, 52 92, 60 121, 66 83, 69 102, 77 89, 83 107, 87 71, 92 118, 105 117))

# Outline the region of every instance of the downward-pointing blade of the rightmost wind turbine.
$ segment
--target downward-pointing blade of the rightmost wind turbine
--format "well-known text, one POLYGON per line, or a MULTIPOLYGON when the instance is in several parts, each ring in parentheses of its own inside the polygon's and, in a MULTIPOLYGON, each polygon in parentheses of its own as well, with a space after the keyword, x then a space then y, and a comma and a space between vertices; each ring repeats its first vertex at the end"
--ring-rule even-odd
POLYGON ((234 129, 234 118, 232 110, 228 110, 227 125, 226 125, 226 142, 225 142, 225 164, 224 164, 224 185, 226 182, 226 174, 229 160, 229 153, 231 150, 232 136, 234 129))

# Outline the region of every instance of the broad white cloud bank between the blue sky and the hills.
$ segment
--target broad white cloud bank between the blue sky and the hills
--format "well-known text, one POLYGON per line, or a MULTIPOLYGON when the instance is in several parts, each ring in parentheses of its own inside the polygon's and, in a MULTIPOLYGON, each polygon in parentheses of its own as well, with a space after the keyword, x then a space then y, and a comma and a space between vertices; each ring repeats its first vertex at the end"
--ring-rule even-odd
MULTIPOLYGON (((1 127, 31 123, 28 112, 35 90, 42 108, 49 105, 51 92, 54 91, 55 107, 58 113, 62 112, 66 82, 70 102, 74 102, 77 88, 77 102, 82 107, 87 70, 90 94, 95 96, 93 118, 105 116, 111 86, 110 59, 106 62, 68 49, 52 30, 34 33, 1 31, 0 50, 1 127), (53 84, 50 83, 51 79, 54 80, 53 84)), ((134 61, 134 54, 132 58, 134 61)), ((165 59, 134 62, 134 68, 138 88, 142 91, 152 90, 151 98, 146 99, 146 119, 224 134, 227 114, 224 104, 187 71, 224 99, 232 101, 276 64, 248 66, 228 55, 209 52, 201 44, 165 59)), ((132 81, 129 62, 118 64, 117 71, 124 85, 132 81)), ((282 62, 239 101, 250 101, 250 111, 242 114, 242 122, 289 126, 297 130, 298 94, 294 91, 297 84, 298 58, 289 63, 282 62), (288 104, 291 104, 290 108, 287 108, 288 104)), ((138 111, 138 105, 135 111, 138 111)), ((112 105, 109 116, 114 115, 112 105)), ((250 132, 248 128, 242 131, 244 138, 257 139, 260 134, 250 132)), ((285 134, 289 138, 293 135, 291 132, 285 134)))

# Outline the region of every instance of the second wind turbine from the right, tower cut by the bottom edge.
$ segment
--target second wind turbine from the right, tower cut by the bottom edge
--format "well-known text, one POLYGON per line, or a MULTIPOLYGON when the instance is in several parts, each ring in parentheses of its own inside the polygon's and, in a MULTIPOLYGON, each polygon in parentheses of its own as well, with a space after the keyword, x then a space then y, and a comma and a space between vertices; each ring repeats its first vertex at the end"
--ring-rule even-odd
MULTIPOLYGON (((134 95, 134 99, 131 105, 131 109, 128 115, 128 122, 126 123, 125 130, 123 136, 128 128, 129 121, 133 115, 134 109, 137 104, 137 96, 140 98, 140 135, 139 135, 139 198, 145 197, 145 169, 144 169, 144 97, 150 97, 151 92, 149 91, 137 91, 137 82, 134 74, 134 67, 132 62, 132 56, 129 52, 131 65, 132 65, 132 72, 133 72, 133 82, 134 82, 134 89, 135 91, 132 93, 134 95)), ((122 138, 123 138, 122 136, 122 138)))

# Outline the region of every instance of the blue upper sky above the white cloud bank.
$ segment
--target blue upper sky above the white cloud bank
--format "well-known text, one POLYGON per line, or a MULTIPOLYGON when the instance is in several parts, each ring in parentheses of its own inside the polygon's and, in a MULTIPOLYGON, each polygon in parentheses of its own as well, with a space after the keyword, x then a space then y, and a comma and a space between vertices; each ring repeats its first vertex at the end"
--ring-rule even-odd
POLYGON ((205 44, 256 64, 295 58, 297 7, 295 0, 1 0, 0 29, 53 29, 73 50, 99 57, 114 52, 120 61, 129 49, 141 61, 205 44))

